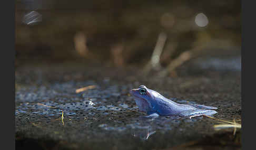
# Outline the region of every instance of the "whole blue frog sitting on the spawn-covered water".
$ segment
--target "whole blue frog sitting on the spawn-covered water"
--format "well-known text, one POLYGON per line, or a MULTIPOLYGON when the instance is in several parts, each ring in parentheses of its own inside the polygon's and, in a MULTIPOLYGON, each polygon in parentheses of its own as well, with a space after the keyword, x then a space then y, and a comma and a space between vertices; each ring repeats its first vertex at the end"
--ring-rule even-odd
POLYGON ((199 104, 179 104, 169 100, 160 93, 147 89, 145 85, 140 85, 138 89, 132 89, 131 95, 135 98, 139 111, 148 114, 146 117, 157 117, 159 115, 178 115, 184 117, 194 117, 202 115, 213 115, 217 113, 213 106, 199 104))

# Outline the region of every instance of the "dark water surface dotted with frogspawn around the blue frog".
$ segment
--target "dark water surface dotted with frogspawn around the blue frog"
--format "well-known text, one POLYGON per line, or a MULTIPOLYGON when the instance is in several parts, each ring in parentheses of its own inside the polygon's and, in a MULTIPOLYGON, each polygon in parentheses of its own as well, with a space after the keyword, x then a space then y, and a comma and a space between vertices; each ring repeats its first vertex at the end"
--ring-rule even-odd
MULTIPOLYGON (((205 117, 145 119, 129 94, 144 84, 179 103, 216 106, 218 119, 241 119, 240 72, 205 72, 205 76, 161 79, 141 76, 137 68, 81 63, 21 66, 16 69, 16 147, 29 140, 25 146, 37 143, 37 148, 49 149, 163 149, 205 136, 222 141, 222 136, 214 135, 232 135, 233 130, 214 131, 213 125, 220 122, 205 117), (95 88, 75 92, 88 85, 95 88)), ((233 138, 225 148, 241 148, 233 138)))

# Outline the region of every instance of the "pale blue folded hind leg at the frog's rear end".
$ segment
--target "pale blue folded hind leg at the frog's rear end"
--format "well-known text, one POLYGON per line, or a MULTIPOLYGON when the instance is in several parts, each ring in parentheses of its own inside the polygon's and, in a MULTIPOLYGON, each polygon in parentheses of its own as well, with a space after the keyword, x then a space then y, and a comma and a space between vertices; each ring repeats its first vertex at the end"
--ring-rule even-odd
POLYGON ((194 116, 201 116, 203 114, 205 115, 213 115, 217 113, 216 111, 214 110, 186 110, 186 111, 183 111, 179 114, 179 116, 190 116, 191 117, 194 117, 194 116))

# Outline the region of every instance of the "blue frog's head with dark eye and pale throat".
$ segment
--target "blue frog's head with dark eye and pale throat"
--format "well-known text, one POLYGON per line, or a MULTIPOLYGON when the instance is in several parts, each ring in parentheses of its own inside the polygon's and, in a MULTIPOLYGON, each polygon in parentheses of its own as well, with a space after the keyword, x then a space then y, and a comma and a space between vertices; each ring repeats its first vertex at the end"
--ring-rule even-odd
POLYGON ((140 85, 138 89, 132 89, 131 95, 135 98, 136 105, 140 111, 145 113, 152 110, 154 107, 154 93, 155 91, 147 89, 145 85, 140 85))

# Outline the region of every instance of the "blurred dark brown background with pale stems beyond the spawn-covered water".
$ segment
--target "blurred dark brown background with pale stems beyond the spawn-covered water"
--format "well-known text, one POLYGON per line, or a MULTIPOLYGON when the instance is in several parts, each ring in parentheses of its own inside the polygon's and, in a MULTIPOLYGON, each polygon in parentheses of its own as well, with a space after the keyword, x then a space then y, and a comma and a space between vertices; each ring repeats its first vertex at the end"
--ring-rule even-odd
POLYGON ((184 65, 240 71, 240 3, 16 0, 15 64, 76 61, 173 77, 184 65))

